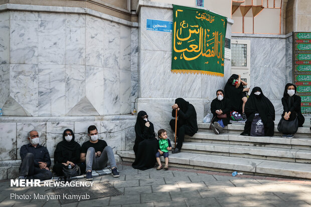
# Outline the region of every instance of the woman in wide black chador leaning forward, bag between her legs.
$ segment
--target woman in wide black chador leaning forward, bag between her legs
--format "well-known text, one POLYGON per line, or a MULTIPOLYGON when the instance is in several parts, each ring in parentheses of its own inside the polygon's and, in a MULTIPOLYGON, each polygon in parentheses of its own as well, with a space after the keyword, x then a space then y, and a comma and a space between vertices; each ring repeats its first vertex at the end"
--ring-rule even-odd
POLYGON ((256 113, 259 113, 264 126, 264 135, 273 136, 273 121, 275 119, 274 106, 271 101, 263 95, 261 88, 253 88, 251 94, 249 95, 248 101, 245 104, 245 113, 247 120, 245 122, 244 131, 241 135, 249 136, 253 118, 256 113))

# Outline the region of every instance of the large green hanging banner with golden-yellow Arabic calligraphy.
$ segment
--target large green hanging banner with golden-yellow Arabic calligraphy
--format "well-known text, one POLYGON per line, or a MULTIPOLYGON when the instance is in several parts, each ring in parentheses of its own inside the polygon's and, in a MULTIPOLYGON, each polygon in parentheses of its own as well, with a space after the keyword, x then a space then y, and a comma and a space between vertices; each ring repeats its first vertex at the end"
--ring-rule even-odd
POLYGON ((227 18, 173 5, 172 71, 224 76, 227 18))

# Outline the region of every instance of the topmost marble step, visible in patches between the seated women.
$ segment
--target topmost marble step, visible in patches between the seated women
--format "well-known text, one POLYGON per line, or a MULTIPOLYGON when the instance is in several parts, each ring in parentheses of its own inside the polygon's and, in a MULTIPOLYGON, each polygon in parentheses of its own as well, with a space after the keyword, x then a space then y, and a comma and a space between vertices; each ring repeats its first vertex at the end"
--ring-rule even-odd
MULTIPOLYGON (((210 123, 203 123, 199 122, 198 123, 198 128, 199 131, 212 131, 210 128, 210 123)), ((223 132, 227 133, 241 133, 244 130, 244 123, 233 123, 233 124, 228 124, 227 126, 224 127, 223 132)), ((277 125, 274 126, 274 135, 281 135, 281 132, 277 130, 277 125)), ((298 137, 311 137, 311 130, 308 127, 298 127, 298 130, 295 134, 295 136, 298 137)))

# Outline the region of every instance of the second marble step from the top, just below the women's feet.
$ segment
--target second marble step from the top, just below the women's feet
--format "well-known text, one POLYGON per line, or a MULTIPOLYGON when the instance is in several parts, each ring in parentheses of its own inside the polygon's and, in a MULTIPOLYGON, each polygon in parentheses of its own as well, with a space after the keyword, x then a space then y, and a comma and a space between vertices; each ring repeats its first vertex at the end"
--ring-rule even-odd
POLYGON ((186 135, 186 141, 195 142, 212 142, 212 143, 232 143, 241 145, 257 145, 257 146, 271 146, 281 148, 296 148, 296 149, 310 149, 311 138, 308 137, 295 137, 282 138, 281 136, 243 136, 234 133, 220 133, 214 132, 198 132, 192 137, 186 135))

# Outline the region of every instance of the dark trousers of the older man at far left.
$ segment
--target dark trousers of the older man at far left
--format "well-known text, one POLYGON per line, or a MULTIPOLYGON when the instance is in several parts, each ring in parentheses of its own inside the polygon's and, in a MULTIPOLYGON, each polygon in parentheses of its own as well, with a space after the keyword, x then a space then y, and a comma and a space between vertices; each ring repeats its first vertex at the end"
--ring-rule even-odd
POLYGON ((53 173, 50 170, 36 167, 34 161, 34 154, 27 153, 20 166, 20 176, 27 176, 27 179, 51 179, 53 173))

